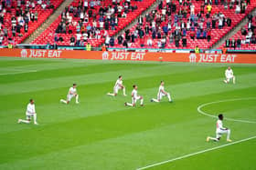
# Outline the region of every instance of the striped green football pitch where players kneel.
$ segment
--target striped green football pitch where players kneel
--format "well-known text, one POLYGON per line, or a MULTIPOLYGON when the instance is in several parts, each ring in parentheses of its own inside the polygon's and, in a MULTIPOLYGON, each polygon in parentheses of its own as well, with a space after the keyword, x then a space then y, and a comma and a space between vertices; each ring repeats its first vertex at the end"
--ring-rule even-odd
POLYGON ((256 169, 256 65, 0 58, 0 169, 256 169), (123 75, 127 96, 112 87, 123 75), (160 81, 174 103, 156 97, 160 81), (76 83, 80 104, 59 103, 76 83), (131 102, 133 85, 144 106, 131 102), (39 125, 26 118, 29 99, 39 125), (231 129, 215 136, 217 118, 231 129), (227 119, 225 119, 227 118, 227 119))

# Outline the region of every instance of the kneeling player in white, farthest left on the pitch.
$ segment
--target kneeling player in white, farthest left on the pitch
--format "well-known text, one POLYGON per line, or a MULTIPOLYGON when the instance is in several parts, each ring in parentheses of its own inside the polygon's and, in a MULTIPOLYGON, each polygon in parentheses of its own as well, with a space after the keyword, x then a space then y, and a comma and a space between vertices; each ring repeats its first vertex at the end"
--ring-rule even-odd
POLYGON ((34 118, 34 124, 38 125, 37 124, 37 114, 36 114, 36 109, 35 109, 35 102, 34 102, 33 99, 29 100, 29 104, 27 105, 26 116, 27 116, 27 120, 18 119, 17 123, 18 124, 20 124, 20 123, 30 124, 31 117, 33 117, 34 118))

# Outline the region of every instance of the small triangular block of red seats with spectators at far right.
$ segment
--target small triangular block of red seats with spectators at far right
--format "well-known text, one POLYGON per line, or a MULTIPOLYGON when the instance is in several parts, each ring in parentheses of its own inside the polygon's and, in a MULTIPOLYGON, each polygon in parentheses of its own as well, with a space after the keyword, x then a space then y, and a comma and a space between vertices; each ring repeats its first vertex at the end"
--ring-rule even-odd
POLYGON ((248 23, 220 46, 229 50, 256 50, 256 18, 248 15, 248 23))

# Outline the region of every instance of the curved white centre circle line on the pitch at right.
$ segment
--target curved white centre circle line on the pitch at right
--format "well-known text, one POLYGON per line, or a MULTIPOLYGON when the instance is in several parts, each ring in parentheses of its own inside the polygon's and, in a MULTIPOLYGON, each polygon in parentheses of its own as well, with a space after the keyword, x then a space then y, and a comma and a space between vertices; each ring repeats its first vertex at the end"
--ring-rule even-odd
MULTIPOLYGON (((233 102, 233 101, 240 101, 240 100, 255 100, 256 97, 246 97, 246 98, 233 98, 233 99, 226 99, 226 100, 219 100, 219 101, 215 101, 215 102, 209 102, 203 105, 199 105, 197 107, 197 112, 202 114, 202 115, 208 115, 209 117, 214 117, 217 118, 216 115, 210 115, 204 111, 201 110, 202 107, 206 106, 206 105, 212 105, 212 104, 219 104, 219 103, 223 103, 223 102, 233 102)), ((234 121, 234 122, 242 122, 242 123, 249 123, 249 124, 256 124, 255 121, 248 121, 248 120, 240 120, 240 119, 233 119, 233 118, 225 118, 226 120, 229 121, 234 121)))

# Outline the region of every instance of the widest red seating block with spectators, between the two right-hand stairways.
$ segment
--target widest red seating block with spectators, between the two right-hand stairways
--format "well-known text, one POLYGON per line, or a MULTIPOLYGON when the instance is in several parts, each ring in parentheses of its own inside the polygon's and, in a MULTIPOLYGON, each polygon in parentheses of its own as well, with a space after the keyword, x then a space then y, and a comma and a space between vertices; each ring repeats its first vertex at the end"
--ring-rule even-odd
POLYGON ((254 0, 162 1, 157 9, 139 18, 132 29, 112 40, 110 46, 206 49, 229 33, 255 6, 254 0))

